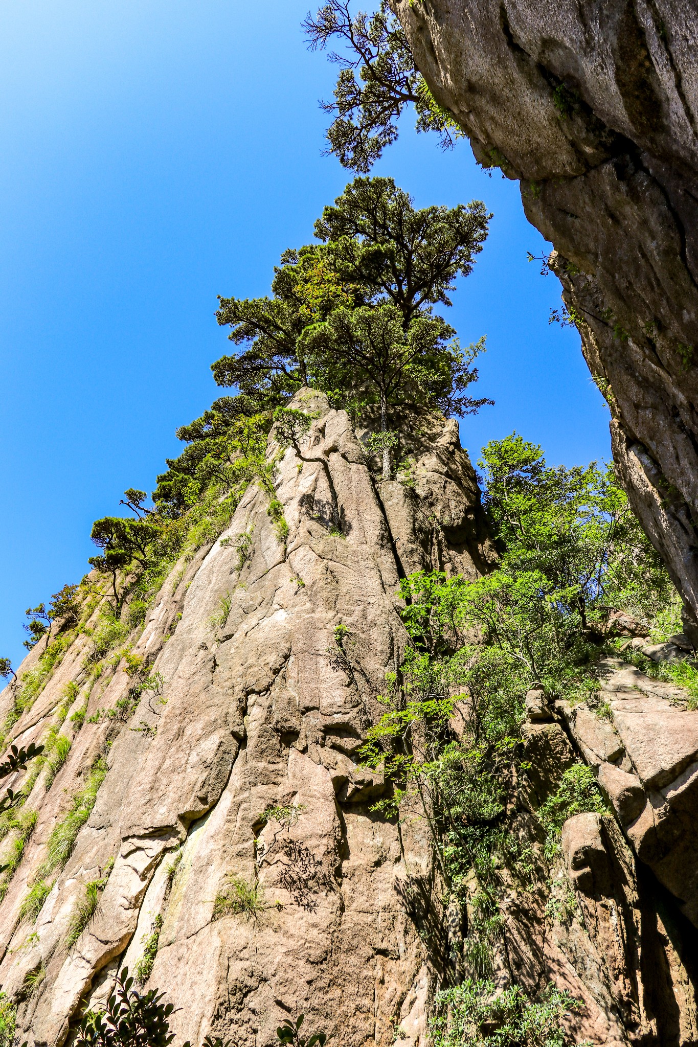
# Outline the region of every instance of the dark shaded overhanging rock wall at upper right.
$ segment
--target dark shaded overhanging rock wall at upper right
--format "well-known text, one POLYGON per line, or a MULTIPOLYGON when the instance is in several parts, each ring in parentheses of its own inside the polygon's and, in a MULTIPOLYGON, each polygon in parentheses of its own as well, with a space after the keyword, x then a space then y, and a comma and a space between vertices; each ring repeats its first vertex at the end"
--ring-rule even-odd
MULTIPOLYGON (((698 614, 698 5, 392 0, 475 156, 521 180, 629 497, 698 614)), ((696 639, 698 640, 698 636, 696 639)))

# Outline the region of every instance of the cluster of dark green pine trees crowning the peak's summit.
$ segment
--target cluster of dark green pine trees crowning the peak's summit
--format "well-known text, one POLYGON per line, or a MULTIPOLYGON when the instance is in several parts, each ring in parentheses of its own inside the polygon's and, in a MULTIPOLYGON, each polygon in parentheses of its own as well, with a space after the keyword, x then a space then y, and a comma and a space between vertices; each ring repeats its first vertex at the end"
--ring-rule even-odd
POLYGON ((285 252, 272 297, 221 298, 219 322, 248 348, 216 361, 217 382, 238 386, 260 409, 286 406, 309 382, 359 406, 383 408, 398 386, 449 414, 490 403, 463 395, 477 380, 473 361, 483 339, 465 351, 457 342, 447 348, 454 332, 431 314, 436 304, 450 306, 455 277, 471 272, 489 219, 479 201, 416 209, 392 179, 355 179, 317 221, 321 243, 285 252), (370 361, 379 359, 377 371, 370 361))

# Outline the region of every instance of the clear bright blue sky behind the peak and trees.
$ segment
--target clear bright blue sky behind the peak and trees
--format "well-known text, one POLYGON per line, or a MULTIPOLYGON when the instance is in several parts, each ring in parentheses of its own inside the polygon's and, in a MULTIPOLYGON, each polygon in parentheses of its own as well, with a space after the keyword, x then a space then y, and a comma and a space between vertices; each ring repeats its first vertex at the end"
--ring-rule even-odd
MULTIPOLYGON (((152 490, 175 428, 217 395, 217 294, 267 293, 280 251, 350 180, 322 157, 335 70, 299 31, 307 0, 8 0, 0 6, 0 655, 24 610, 78 581, 92 520, 152 490)), ((461 424, 473 460, 517 429, 548 461, 609 454, 608 414, 518 186, 403 121, 376 173, 416 204, 494 219, 449 320, 488 336, 461 424)))

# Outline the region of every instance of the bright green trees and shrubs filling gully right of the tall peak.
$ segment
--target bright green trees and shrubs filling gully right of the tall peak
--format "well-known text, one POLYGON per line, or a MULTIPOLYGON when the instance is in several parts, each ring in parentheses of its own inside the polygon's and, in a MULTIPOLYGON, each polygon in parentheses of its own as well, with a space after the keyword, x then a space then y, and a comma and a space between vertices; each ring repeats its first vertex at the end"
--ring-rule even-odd
POLYGON ((362 752, 390 782, 374 809, 425 820, 447 899, 468 905, 454 962, 487 982, 501 954, 505 886, 544 881, 564 820, 605 810, 580 764, 554 785, 538 827, 526 821, 526 691, 591 697, 611 612, 631 610, 649 630, 658 620, 675 627, 678 607, 612 469, 551 468, 516 433, 488 444, 480 466, 498 563, 475 581, 437 571, 403 579, 411 644, 362 752))

